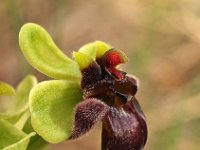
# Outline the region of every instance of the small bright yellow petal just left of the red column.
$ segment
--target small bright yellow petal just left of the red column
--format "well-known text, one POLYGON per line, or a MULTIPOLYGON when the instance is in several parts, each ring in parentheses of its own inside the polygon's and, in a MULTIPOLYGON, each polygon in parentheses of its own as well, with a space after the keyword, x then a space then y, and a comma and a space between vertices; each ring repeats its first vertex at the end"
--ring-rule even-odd
POLYGON ((96 44, 96 47, 97 47, 97 54, 96 54, 97 58, 102 57, 105 54, 106 51, 113 48, 111 45, 106 44, 102 41, 96 41, 95 44, 96 44))

